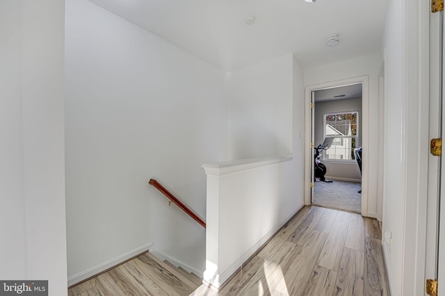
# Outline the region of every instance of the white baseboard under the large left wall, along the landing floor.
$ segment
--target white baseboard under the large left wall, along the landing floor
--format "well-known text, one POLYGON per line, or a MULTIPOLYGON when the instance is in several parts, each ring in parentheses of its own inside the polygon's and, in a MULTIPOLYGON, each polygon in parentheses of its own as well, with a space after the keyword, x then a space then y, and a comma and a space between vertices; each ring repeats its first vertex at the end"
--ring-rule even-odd
POLYGON ((152 243, 147 243, 146 245, 137 247, 134 250, 131 250, 127 253, 124 253, 124 254, 117 256, 113 259, 110 259, 108 261, 105 261, 104 263, 100 263, 99 265, 93 266, 92 268, 88 268, 87 270, 79 272, 76 275, 72 275, 71 277, 68 277, 68 286, 77 284, 80 281, 83 281, 84 279, 88 279, 88 277, 97 275, 100 272, 107 270, 108 268, 112 268, 113 266, 118 265, 118 264, 130 259, 133 256, 136 256, 140 253, 148 251, 150 245, 152 245, 152 243))

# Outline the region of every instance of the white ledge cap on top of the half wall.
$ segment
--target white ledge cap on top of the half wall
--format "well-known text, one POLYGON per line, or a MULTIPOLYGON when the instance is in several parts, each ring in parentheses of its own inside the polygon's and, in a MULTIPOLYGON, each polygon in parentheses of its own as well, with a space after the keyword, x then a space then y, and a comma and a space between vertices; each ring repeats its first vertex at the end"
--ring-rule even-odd
POLYGON ((237 159, 229 162, 217 162, 216 164, 202 164, 206 175, 227 175, 239 171, 246 171, 261 166, 270 166, 280 162, 289 162, 293 155, 272 156, 272 157, 253 157, 246 159, 237 159))

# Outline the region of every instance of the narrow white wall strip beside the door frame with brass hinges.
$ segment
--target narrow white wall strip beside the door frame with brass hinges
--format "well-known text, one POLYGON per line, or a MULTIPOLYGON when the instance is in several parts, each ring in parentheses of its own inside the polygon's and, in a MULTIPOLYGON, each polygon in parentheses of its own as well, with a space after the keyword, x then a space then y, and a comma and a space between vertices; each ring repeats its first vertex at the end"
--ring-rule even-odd
POLYGON ((391 157, 394 151, 400 153, 400 149, 394 150, 395 147, 402 147, 402 99, 404 94, 402 91, 404 81, 401 71, 404 69, 403 59, 403 33, 402 33, 402 13, 399 12, 401 2, 390 1, 387 15, 387 26, 385 29, 385 110, 387 116, 386 123, 386 147, 387 162, 385 164, 385 212, 383 216, 383 233, 389 232, 392 238, 386 241, 386 250, 390 256, 387 266, 389 268, 389 281, 391 283, 391 290, 394 295, 401 295, 397 281, 400 275, 398 268, 401 260, 401 190, 402 190, 402 164, 401 157, 391 157))

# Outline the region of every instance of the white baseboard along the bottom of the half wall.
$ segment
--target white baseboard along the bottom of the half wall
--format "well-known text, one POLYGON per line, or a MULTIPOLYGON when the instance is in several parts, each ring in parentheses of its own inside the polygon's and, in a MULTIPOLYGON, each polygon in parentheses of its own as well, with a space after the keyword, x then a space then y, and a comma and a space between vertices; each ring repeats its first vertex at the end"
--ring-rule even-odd
POLYGON ((232 265, 230 265, 229 268, 224 270, 219 275, 214 275, 210 281, 204 280, 205 281, 204 284, 207 284, 207 286, 211 286, 211 288, 213 290, 218 291, 219 288, 224 285, 225 281, 227 281, 227 279, 229 279, 229 277, 231 277, 234 274, 234 272, 236 272, 236 270, 238 270, 238 268, 240 268, 241 265, 243 265, 243 263, 248 261, 248 259, 250 259, 250 257, 253 254, 255 254, 255 252, 257 252, 259 250, 259 248, 262 245, 264 245, 264 243, 266 243, 278 230, 280 230, 281 227, 286 225, 286 223, 288 223, 289 220, 293 216, 295 216, 298 213, 298 211, 300 211, 300 209, 302 209, 302 207, 305 207, 305 204, 302 204, 302 206, 300 208, 298 208, 296 211, 294 211, 282 223, 276 225, 275 227, 273 227, 273 229, 270 229, 270 231, 265 236, 260 238, 259 241, 257 241, 257 243, 255 243, 252 247, 250 247, 250 249, 247 252, 245 252, 241 257, 239 257, 238 260, 236 260, 234 263, 232 263, 232 265))

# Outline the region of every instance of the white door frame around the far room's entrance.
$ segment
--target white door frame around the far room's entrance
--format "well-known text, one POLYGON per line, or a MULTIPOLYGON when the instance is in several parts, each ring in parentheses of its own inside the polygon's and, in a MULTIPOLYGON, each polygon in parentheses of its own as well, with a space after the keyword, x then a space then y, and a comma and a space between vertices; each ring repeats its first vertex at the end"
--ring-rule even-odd
POLYGON ((362 83, 362 216, 368 216, 368 148, 369 148, 369 78, 368 76, 359 76, 343 80, 325 82, 317 85, 305 87, 305 204, 311 204, 311 170, 314 162, 314 153, 311 147, 311 94, 319 89, 329 89, 345 85, 355 85, 362 83))

